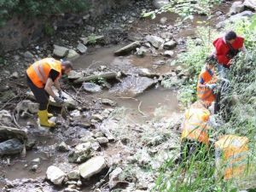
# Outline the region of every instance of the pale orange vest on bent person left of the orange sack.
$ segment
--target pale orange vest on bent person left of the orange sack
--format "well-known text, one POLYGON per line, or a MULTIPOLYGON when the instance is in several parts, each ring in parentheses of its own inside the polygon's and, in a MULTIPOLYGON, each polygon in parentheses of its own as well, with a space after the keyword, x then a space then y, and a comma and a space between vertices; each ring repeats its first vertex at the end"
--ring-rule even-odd
POLYGON ((207 121, 210 118, 207 108, 189 108, 185 112, 185 122, 183 123, 182 140, 184 138, 200 143, 209 143, 207 133, 207 121))

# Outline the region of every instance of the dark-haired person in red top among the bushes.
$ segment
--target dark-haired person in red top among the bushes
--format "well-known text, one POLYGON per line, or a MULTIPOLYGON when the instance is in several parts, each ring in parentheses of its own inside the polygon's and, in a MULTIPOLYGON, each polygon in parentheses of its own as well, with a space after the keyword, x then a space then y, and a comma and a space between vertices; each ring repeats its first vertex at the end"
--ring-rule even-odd
POLYGON ((221 78, 225 78, 227 70, 230 68, 232 59, 239 51, 246 52, 244 38, 236 35, 236 32, 227 32, 224 37, 213 41, 215 51, 213 55, 218 59, 218 73, 221 78))

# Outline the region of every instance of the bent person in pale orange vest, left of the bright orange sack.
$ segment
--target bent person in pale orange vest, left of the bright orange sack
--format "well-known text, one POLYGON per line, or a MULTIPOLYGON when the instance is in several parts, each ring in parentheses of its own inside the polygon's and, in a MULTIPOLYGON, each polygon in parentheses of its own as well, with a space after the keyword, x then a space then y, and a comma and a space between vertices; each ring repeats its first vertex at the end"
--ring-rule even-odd
POLYGON ((207 108, 189 108, 186 110, 185 120, 182 125, 179 163, 183 162, 185 164, 188 160, 203 160, 207 158, 209 118, 210 112, 207 108))

